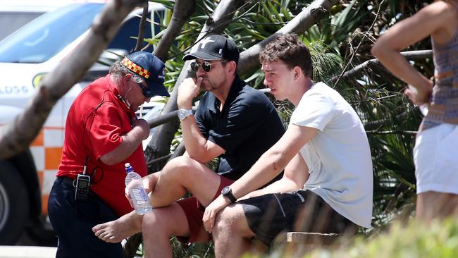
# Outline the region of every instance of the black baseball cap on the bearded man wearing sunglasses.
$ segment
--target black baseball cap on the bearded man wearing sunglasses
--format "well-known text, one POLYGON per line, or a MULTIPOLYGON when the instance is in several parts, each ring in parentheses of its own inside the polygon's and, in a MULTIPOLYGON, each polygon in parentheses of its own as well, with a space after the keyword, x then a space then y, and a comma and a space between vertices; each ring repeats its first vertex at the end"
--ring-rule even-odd
POLYGON ((183 57, 183 60, 202 59, 239 61, 239 49, 232 39, 221 35, 209 35, 202 39, 191 49, 191 53, 183 57), (196 47, 197 46, 197 47, 196 47))

